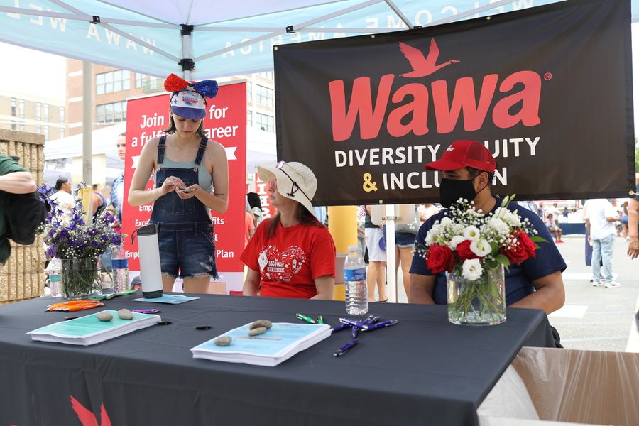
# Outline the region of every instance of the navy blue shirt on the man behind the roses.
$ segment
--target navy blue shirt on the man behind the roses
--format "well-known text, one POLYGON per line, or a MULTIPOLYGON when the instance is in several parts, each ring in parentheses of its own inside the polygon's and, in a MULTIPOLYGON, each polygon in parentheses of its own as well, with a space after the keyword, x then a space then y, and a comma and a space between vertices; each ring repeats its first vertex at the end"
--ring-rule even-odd
MULTIPOLYGON (((497 207, 501 206, 501 197, 496 198, 497 203, 491 210, 490 214, 493 214, 497 207)), ((564 258, 562 258, 559 250, 557 250, 557 246, 555 246, 555 243, 552 242, 550 231, 548 231, 547 227, 537 214, 521 207, 516 202, 510 202, 507 208, 510 211, 517 210, 522 220, 528 219, 530 226, 537 229, 537 236, 541 236, 546 240, 545 242, 537 243, 539 249, 535 251, 535 253, 537 253, 536 258, 528 258, 520 263, 520 265, 510 265, 509 269, 506 271, 506 305, 512 305, 535 291, 532 281, 557 271, 563 272, 567 266, 564 262, 564 258)), ((418 243, 425 245, 426 234, 430 231, 435 222, 442 220, 445 212, 447 212, 447 210, 443 210, 442 212, 433 215, 430 219, 424 222, 424 224, 422 224, 416 236, 416 241, 418 243)), ((419 253, 417 251, 413 253, 413 264, 410 266, 410 273, 417 275, 433 275, 430 269, 426 266, 423 253, 419 253)), ((437 274, 435 290, 433 291, 432 298, 435 300, 437 305, 447 304, 446 275, 443 272, 437 274)))

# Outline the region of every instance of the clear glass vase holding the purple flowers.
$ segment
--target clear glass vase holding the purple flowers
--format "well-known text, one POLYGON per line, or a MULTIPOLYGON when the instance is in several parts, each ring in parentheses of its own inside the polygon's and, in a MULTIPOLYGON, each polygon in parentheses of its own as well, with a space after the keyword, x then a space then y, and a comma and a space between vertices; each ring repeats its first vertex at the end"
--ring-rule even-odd
POLYGON ((100 288, 96 258, 61 259, 62 297, 78 300, 96 295, 100 288))

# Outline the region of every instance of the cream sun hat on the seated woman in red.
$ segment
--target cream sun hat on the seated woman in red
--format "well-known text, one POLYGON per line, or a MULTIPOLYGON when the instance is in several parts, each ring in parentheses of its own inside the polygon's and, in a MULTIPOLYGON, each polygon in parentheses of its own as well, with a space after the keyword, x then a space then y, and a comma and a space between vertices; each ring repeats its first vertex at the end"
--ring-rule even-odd
POLYGON ((262 182, 277 179, 280 195, 299 202, 315 216, 311 200, 317 190, 317 178, 310 168, 296 161, 280 161, 258 165, 258 175, 262 182))

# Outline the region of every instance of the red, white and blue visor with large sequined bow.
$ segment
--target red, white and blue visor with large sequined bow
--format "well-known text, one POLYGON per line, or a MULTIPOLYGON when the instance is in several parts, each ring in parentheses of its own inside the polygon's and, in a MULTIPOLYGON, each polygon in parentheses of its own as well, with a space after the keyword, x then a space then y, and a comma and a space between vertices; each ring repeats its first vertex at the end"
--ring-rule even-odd
POLYGON ((173 114, 193 120, 204 118, 207 114, 207 101, 204 97, 214 97, 218 89, 214 80, 187 82, 175 74, 167 77, 164 88, 168 92, 174 92, 170 101, 173 114))

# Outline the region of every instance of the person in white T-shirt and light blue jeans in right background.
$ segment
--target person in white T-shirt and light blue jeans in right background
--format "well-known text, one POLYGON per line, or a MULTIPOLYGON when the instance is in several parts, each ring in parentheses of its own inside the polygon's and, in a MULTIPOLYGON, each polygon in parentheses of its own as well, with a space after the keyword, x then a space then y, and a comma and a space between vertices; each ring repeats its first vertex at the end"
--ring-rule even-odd
POLYGON ((613 280, 612 255, 615 245, 615 221, 620 220, 610 201, 606 199, 589 200, 586 215, 586 229, 592 243, 592 277, 595 287, 621 287, 613 280), (603 264, 602 271, 599 262, 603 264))

